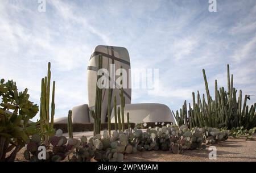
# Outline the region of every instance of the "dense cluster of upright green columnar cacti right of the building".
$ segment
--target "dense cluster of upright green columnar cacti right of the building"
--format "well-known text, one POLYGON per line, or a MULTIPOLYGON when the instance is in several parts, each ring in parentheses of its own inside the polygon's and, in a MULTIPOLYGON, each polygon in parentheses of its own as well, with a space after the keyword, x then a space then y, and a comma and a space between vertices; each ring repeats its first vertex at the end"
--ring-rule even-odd
POLYGON ((247 99, 250 99, 249 95, 245 95, 242 104, 242 90, 239 91, 237 98, 237 90, 233 87, 233 74, 229 74, 229 65, 227 66, 228 71, 228 91, 225 91, 224 87, 218 88, 217 80, 215 81, 215 94, 214 100, 210 96, 207 77, 205 70, 203 69, 203 76, 205 82, 205 90, 207 93, 207 99, 203 94, 203 99, 199 91, 197 91, 197 102, 195 98, 195 92, 192 93, 193 107, 189 103, 187 109, 186 101, 180 111, 176 111, 175 119, 177 125, 186 125, 189 128, 199 126, 201 128, 216 127, 216 128, 236 128, 243 126, 245 129, 251 129, 256 126, 255 108, 256 103, 246 106, 247 99))

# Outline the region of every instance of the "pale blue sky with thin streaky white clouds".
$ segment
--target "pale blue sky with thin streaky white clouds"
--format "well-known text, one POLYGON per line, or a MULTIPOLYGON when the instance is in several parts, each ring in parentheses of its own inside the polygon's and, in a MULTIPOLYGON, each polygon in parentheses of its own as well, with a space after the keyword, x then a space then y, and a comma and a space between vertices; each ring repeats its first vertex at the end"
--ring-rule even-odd
MULTIPOLYGON (((55 117, 88 104, 87 66, 94 47, 125 47, 133 69, 159 69, 159 92, 132 89, 131 103, 163 103, 176 111, 192 92, 210 93, 214 80, 227 86, 226 65, 234 87, 256 102, 256 1, 0 1, 0 78, 28 88, 40 104, 41 79, 51 62, 55 117)), ((37 115, 34 120, 38 119, 37 115)))

